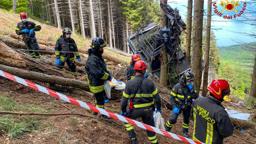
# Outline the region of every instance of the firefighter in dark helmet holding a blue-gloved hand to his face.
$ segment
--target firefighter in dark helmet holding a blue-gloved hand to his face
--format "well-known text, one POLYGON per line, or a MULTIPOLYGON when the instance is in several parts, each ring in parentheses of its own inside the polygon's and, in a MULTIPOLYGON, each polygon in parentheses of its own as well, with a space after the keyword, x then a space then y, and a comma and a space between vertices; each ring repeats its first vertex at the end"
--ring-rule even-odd
POLYGON ((197 99, 197 91, 192 85, 194 75, 191 71, 185 71, 179 83, 174 85, 171 91, 170 103, 173 107, 171 116, 165 125, 166 131, 171 131, 173 125, 177 122, 177 117, 183 112, 183 137, 188 137, 189 132, 189 116, 191 113, 192 99, 197 99))

